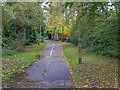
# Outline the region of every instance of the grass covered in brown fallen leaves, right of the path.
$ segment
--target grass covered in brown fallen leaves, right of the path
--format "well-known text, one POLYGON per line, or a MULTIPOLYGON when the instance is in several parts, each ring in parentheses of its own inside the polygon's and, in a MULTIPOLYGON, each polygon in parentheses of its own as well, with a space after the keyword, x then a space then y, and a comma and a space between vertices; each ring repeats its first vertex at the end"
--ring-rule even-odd
POLYGON ((78 65, 78 48, 70 43, 63 43, 62 47, 77 87, 118 87, 118 60, 82 50, 83 63, 78 65))

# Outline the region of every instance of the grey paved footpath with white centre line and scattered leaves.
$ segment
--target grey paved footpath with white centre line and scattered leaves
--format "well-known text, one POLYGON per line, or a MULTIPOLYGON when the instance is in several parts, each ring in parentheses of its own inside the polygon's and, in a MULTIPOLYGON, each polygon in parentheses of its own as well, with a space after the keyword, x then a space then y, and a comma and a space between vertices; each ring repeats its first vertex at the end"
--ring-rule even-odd
MULTIPOLYGON (((25 72, 32 88, 71 88, 74 87, 70 80, 70 71, 62 56, 62 47, 59 42, 45 40, 47 46, 42 54, 45 58, 36 61, 25 72)), ((26 83, 27 84, 27 83, 26 83)), ((29 87, 21 84, 19 87, 29 87)))

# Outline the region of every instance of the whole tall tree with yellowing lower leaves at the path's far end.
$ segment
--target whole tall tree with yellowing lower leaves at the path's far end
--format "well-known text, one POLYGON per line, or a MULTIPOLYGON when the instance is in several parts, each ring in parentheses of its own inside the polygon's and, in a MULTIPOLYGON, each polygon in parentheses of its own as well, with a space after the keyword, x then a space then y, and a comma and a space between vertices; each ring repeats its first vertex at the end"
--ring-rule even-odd
POLYGON ((66 10, 62 3, 52 3, 48 8, 48 17, 46 32, 51 34, 52 39, 66 40, 70 36, 72 24, 66 23, 66 10))

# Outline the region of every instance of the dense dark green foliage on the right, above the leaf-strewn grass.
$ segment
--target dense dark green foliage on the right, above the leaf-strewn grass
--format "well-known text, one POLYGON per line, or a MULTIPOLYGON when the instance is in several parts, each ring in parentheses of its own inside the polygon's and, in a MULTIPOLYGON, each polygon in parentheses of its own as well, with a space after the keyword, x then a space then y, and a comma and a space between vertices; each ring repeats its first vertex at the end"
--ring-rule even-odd
POLYGON ((80 38, 82 48, 89 52, 118 58, 118 3, 114 3, 112 6, 115 8, 109 10, 108 3, 74 4, 71 8, 76 10, 77 16, 72 19, 70 41, 77 45, 80 38))

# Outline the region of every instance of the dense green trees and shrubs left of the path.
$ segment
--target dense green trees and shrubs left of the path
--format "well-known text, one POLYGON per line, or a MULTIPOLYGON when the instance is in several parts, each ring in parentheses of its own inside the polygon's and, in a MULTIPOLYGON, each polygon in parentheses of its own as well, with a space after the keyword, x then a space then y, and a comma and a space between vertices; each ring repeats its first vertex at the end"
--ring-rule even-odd
POLYGON ((44 32, 41 3, 7 2, 2 6, 3 55, 13 50, 24 51, 26 45, 41 42, 44 32))

